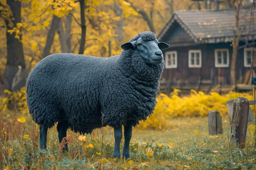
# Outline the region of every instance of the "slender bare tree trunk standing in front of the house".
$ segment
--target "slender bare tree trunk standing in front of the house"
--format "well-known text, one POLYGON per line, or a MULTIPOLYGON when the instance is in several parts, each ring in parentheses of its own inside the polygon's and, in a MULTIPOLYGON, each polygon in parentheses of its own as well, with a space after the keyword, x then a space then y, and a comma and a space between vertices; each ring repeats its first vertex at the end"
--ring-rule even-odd
POLYGON ((236 84, 236 58, 238 52, 238 45, 241 36, 241 28, 239 26, 239 11, 242 4, 242 0, 238 0, 237 4, 234 4, 235 12, 236 12, 236 25, 234 28, 234 35, 233 35, 233 52, 232 52, 232 60, 230 66, 230 75, 231 75, 231 83, 234 85, 234 90, 237 90, 236 84))

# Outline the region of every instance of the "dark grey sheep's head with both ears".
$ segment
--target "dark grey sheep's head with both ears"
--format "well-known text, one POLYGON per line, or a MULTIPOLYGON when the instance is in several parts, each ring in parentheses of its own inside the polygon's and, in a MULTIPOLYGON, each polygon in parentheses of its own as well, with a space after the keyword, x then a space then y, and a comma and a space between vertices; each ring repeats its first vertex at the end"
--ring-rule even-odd
POLYGON ((165 42, 158 42, 156 36, 152 32, 142 32, 121 45, 124 50, 137 50, 140 57, 146 64, 160 64, 163 62, 164 56, 161 50, 170 46, 165 42))

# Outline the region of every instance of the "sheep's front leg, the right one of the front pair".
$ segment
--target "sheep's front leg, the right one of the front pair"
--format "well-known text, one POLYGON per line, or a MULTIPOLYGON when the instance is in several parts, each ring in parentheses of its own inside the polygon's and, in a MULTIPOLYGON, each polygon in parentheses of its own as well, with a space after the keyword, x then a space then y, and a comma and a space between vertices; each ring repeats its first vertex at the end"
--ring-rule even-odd
POLYGON ((129 145, 130 139, 132 137, 132 121, 127 121, 126 126, 124 126, 124 150, 123 150, 123 157, 126 159, 130 157, 129 154, 129 145))

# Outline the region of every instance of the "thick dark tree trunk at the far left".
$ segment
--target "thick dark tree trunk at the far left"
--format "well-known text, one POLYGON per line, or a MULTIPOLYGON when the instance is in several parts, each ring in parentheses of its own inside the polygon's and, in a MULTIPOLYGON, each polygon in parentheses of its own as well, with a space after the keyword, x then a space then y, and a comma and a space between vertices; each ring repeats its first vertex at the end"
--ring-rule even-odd
MULTIPOLYGON (((21 2, 17 0, 7 0, 7 4, 11 8, 13 18, 13 24, 9 24, 9 20, 5 20, 8 29, 13 29, 18 22, 21 22, 21 2)), ((14 91, 19 90, 22 86, 25 86, 27 74, 25 69, 25 59, 22 47, 22 35, 20 34, 20 40, 15 38, 15 33, 10 34, 6 32, 7 37, 7 64, 5 68, 6 88, 14 91), (19 71, 19 74, 18 74, 19 71), (20 76, 18 79, 17 74, 20 76), (21 76, 23 75, 23 76, 21 76)))

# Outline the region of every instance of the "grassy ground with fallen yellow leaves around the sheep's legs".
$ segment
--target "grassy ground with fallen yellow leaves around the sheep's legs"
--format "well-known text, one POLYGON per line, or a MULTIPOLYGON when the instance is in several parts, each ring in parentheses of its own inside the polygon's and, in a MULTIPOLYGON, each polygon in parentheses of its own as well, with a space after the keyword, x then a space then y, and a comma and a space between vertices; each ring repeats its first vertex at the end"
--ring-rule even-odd
POLYGON ((251 132, 247 130, 245 149, 229 146, 230 123, 227 115, 222 117, 223 134, 216 136, 208 133, 207 117, 171 118, 170 127, 162 130, 134 128, 128 160, 111 159, 114 137, 110 127, 85 135, 85 142, 78 140, 79 134, 68 130, 69 151, 60 153, 56 127, 48 131, 48 150, 39 150, 36 124, 29 118, 25 124, 13 121, 11 124, 4 123, 1 134, 3 165, 7 169, 256 170, 256 150, 253 150, 251 132), (4 132, 10 133, 8 140, 5 140, 4 132), (29 135, 29 139, 22 139, 23 135, 29 135), (89 144, 93 148, 85 147, 89 144), (103 157, 107 162, 100 164, 103 157))

